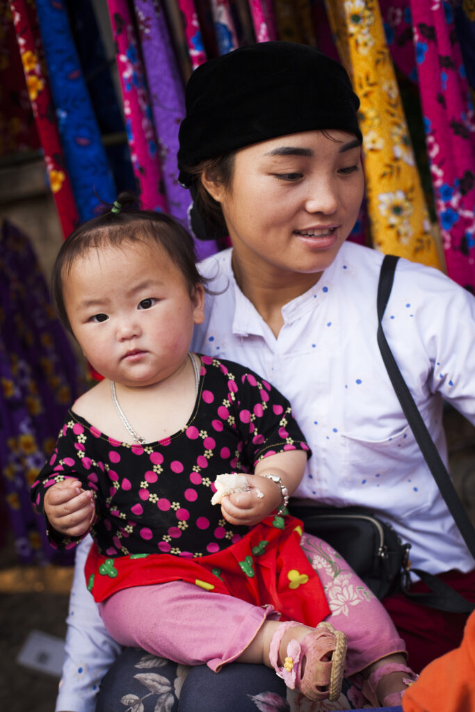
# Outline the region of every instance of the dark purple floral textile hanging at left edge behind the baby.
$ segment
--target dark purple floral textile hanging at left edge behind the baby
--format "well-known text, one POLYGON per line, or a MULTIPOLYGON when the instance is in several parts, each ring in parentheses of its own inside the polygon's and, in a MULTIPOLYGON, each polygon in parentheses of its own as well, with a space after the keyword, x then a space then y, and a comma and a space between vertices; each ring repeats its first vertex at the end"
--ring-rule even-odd
POLYGON ((21 563, 72 563, 55 553, 30 487, 53 449, 79 370, 26 236, 8 221, 0 231, 0 468, 21 563))

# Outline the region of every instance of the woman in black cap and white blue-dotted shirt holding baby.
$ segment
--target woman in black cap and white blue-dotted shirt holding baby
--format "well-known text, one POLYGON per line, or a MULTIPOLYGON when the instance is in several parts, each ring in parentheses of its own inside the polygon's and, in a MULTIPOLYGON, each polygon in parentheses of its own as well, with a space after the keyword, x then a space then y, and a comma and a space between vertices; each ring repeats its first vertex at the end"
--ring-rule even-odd
MULTIPOLYGON (((363 194, 358 105, 338 63, 293 43, 241 48, 194 72, 180 129, 180 179, 195 200, 194 230, 226 231, 233 249, 202 265, 212 294, 192 346, 246 363, 291 400, 313 450, 296 491, 301 503, 371 506, 412 544, 414 566, 446 577, 474 600, 474 561, 427 470, 377 350, 382 256, 345 243, 363 194)), ((470 359, 475 300, 437 271, 400 261, 386 314, 387 339, 447 459, 442 398, 475 422, 470 359)), ((321 552, 315 552, 313 565, 319 564, 321 552)), ((65 668, 69 690, 74 660, 90 670, 98 657, 81 658, 78 636, 87 635, 87 629, 78 624, 78 614, 91 621, 95 615, 83 592, 83 585, 73 591, 79 632, 71 629, 68 636, 74 651, 65 668)), ((348 590, 344 594, 348 597, 348 590)), ((327 595, 334 610, 338 602, 330 588, 327 595)), ((353 605, 357 598, 349 601, 353 605)), ((463 614, 444 614, 401 597, 387 600, 387 609, 416 669, 459 644, 463 614)), ((110 646, 108 651, 112 658, 110 646)), ((104 668, 108 660, 103 662, 104 668)), ((117 665, 122 681, 135 676, 136 671, 117 665)), ((232 679, 230 671, 226 682, 206 675, 199 669, 189 675, 180 710, 209 710, 212 700, 221 710, 254 705, 249 671, 242 677, 236 669, 232 679), (197 689, 207 695, 197 695, 197 689), (229 701, 224 701, 226 691, 229 701)), ((88 691, 90 679, 83 676, 88 691)), ((275 689, 273 681, 261 680, 254 691, 275 689)), ((63 690, 57 709, 79 711, 72 702, 65 706, 73 693, 63 690)), ((112 692, 116 701, 117 693, 112 692)), ((173 698, 172 688, 163 694, 173 698)), ((98 709, 113 708, 107 697, 104 689, 98 709)), ((80 709, 86 709, 84 703, 80 709)))

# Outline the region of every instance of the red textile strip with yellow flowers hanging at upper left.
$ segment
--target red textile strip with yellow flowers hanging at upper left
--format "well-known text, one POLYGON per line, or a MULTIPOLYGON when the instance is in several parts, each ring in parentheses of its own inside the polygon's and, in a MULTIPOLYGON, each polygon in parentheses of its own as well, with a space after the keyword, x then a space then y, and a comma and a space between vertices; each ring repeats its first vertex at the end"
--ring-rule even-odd
POLYGON ((26 0, 11 0, 11 11, 51 192, 53 192, 63 235, 67 237, 78 223, 78 211, 56 125, 38 18, 34 6, 26 0))

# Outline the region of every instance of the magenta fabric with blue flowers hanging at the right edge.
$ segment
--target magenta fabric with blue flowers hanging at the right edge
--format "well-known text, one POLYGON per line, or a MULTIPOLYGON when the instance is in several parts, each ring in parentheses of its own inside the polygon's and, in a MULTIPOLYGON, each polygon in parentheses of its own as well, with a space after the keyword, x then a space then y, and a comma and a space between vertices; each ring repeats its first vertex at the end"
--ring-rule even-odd
POLYGON ((475 121, 448 3, 411 0, 419 90, 447 273, 475 291, 475 121))

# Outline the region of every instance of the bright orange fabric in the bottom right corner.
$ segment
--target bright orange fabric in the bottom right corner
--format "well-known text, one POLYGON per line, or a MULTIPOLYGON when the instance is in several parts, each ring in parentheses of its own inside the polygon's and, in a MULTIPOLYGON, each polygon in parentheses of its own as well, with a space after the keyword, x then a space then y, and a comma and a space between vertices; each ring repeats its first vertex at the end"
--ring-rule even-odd
POLYGON ((475 710, 475 612, 461 646, 432 661, 404 693, 404 712, 471 712, 475 710))

